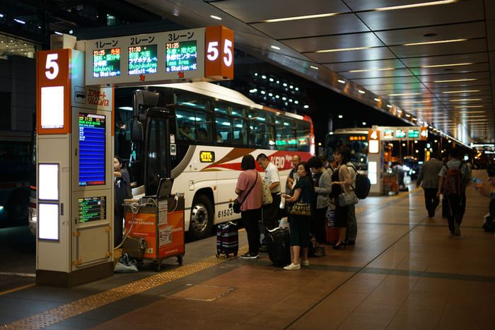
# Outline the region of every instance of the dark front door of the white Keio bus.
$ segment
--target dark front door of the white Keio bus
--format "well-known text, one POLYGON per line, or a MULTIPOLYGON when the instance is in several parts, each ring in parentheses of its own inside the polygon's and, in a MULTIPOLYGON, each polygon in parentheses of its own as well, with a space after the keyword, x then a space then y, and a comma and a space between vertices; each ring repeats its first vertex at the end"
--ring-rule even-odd
POLYGON ((151 108, 146 117, 144 187, 146 195, 154 195, 160 179, 170 177, 170 113, 151 108))

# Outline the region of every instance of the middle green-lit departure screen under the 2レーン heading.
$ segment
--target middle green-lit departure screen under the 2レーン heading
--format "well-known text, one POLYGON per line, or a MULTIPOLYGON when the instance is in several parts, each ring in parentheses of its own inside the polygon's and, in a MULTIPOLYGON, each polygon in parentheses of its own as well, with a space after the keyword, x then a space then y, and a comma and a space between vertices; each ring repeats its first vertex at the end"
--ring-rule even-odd
POLYGON ((158 72, 156 45, 129 47, 129 74, 158 72))

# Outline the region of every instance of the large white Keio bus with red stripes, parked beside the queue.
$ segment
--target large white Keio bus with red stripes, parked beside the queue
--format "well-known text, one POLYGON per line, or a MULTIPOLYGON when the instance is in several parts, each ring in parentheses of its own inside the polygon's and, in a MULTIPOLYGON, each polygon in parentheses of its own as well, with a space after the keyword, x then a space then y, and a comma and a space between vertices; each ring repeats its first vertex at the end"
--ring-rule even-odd
POLYGON ((117 89, 115 102, 115 153, 129 160, 133 195, 156 194, 160 179, 170 177, 172 193, 185 194, 185 230, 193 240, 239 218, 232 203, 243 155, 265 153, 284 187, 292 156, 315 153, 308 116, 212 83, 117 89))

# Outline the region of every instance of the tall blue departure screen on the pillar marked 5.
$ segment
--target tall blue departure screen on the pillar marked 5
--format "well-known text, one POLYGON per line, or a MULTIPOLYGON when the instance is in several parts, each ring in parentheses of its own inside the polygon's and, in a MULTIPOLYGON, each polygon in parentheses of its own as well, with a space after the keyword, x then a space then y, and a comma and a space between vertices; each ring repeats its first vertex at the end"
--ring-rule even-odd
POLYGON ((105 134, 104 115, 79 113, 79 186, 105 184, 105 134))

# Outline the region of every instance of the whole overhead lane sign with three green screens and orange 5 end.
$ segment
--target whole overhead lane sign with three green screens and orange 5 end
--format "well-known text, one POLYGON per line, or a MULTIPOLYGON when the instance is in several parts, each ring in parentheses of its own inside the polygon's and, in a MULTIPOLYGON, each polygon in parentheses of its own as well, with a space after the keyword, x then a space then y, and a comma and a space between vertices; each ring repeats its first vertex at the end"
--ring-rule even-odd
POLYGON ((87 86, 233 79, 233 31, 223 26, 86 40, 85 47, 87 86))

